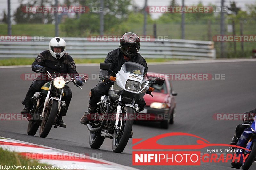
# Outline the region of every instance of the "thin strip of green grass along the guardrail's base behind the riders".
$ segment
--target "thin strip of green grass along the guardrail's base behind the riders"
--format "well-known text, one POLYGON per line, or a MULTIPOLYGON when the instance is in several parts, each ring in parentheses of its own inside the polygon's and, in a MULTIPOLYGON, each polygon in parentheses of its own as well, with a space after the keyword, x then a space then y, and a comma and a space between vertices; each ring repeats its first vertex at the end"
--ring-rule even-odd
MULTIPOLYGON (((17 65, 31 65, 34 62, 34 58, 4 58, 0 59, 0 66, 17 66, 17 65)), ((101 63, 104 62, 104 58, 95 59, 81 59, 74 58, 76 64, 81 63, 101 63)), ((146 58, 147 62, 168 62, 168 61, 180 61, 185 59, 162 59, 162 58, 146 58)))

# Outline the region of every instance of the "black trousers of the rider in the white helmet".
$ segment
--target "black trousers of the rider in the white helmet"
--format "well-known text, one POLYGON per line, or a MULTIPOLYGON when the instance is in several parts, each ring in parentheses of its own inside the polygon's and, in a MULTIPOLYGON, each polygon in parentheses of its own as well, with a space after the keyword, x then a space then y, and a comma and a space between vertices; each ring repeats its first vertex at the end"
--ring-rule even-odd
MULTIPOLYGON (((30 100, 31 97, 35 92, 39 92, 41 87, 47 82, 48 82, 47 80, 34 80, 30 85, 30 88, 28 89, 28 92, 26 94, 24 101, 22 101, 21 103, 26 107, 31 107, 31 100, 30 100)), ((61 110, 60 116, 66 116, 71 98, 72 98, 72 91, 68 86, 65 86, 64 97, 62 98, 62 100, 65 101, 66 103, 66 110, 61 110)))

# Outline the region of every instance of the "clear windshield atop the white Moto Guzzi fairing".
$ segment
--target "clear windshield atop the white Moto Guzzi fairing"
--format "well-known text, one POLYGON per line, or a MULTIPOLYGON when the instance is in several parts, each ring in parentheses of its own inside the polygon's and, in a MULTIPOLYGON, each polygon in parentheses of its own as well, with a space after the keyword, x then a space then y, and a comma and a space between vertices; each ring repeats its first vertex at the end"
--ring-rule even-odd
POLYGON ((136 74, 141 77, 143 77, 143 73, 145 69, 144 66, 142 66, 141 64, 130 62, 130 61, 125 62, 121 68, 126 73, 136 74))

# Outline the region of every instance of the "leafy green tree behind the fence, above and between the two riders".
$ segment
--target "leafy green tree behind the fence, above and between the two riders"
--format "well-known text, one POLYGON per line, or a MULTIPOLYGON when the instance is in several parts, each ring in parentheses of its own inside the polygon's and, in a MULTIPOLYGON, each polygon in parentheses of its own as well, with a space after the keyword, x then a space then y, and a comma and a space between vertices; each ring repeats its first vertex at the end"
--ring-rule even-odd
MULTIPOLYGON (((82 36, 99 34, 100 11, 99 13, 93 13, 92 7, 100 7, 100 0, 74 0, 73 3, 89 7, 90 12, 77 14, 78 17, 75 21, 71 21, 71 19, 66 18, 63 26, 60 28, 66 32, 67 35, 73 34, 73 36, 74 34, 82 36), (69 25, 69 23, 72 23, 73 25, 69 25)), ((118 25, 121 22, 126 21, 130 12, 128 8, 130 5, 131 0, 104 1, 104 30, 118 28, 118 25)), ((100 10, 100 8, 98 8, 98 10, 100 10)))

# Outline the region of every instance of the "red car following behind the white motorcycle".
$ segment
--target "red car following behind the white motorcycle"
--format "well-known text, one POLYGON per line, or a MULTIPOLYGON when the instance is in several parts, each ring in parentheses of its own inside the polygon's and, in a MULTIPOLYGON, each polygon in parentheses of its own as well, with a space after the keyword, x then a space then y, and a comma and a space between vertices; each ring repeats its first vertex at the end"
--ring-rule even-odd
POLYGON ((151 84, 154 88, 152 96, 145 95, 144 100, 146 102, 145 109, 140 112, 140 115, 147 114, 145 117, 149 117, 146 120, 161 121, 161 128, 168 129, 169 124, 173 124, 175 117, 176 102, 173 96, 177 96, 172 89, 170 81, 166 80, 164 74, 148 72, 148 79, 154 81, 156 77, 165 79, 162 86, 157 84, 151 84))

